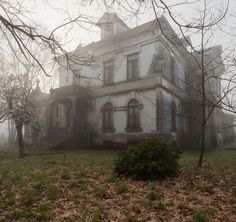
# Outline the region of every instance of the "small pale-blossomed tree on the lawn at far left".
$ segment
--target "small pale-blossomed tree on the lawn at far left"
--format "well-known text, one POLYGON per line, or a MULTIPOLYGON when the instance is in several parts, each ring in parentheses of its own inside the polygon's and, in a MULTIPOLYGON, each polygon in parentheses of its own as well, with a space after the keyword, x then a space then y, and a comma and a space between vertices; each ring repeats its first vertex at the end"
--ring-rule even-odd
POLYGON ((24 125, 39 129, 35 107, 30 100, 32 82, 26 70, 24 74, 0 74, 0 120, 11 119, 16 127, 20 157, 25 156, 23 139, 24 125))

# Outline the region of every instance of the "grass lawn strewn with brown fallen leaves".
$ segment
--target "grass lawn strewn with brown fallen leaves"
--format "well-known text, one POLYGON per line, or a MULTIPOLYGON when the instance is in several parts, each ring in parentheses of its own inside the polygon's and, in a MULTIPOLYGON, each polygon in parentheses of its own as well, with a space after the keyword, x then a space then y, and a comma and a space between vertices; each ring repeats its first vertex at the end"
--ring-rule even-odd
POLYGON ((180 175, 159 182, 117 178, 116 157, 0 152, 0 221, 236 221, 235 149, 208 153, 202 169, 184 153, 180 175))

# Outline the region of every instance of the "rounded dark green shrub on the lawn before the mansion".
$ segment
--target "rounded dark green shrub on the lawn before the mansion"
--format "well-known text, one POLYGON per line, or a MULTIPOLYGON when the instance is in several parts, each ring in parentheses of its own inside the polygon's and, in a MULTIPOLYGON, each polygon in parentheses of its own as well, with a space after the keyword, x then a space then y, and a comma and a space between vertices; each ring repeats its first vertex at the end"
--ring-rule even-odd
POLYGON ((140 180, 164 179, 179 171, 180 152, 168 143, 156 139, 129 146, 115 161, 118 175, 140 180))

